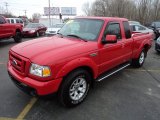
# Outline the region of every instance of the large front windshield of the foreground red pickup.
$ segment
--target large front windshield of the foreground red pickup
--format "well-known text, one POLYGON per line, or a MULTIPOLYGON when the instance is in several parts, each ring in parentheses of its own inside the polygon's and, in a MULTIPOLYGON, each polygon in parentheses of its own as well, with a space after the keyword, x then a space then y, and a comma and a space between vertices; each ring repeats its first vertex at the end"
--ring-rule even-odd
POLYGON ((101 27, 103 25, 103 20, 93 20, 93 19, 73 19, 68 21, 59 34, 63 36, 78 36, 79 38, 94 41, 97 39, 101 27))

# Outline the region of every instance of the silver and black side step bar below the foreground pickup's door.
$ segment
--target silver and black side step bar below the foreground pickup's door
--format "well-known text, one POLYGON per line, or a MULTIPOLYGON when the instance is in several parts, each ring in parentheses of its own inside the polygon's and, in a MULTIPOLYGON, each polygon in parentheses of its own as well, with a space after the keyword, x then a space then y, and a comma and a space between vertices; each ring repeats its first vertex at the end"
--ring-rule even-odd
POLYGON ((115 73, 123 70, 124 68, 126 68, 126 67, 128 67, 128 66, 130 66, 130 63, 125 63, 125 64, 122 64, 122 65, 116 67, 116 68, 113 68, 113 69, 110 70, 109 72, 106 72, 106 73, 102 74, 102 75, 101 75, 100 77, 98 77, 95 81, 100 82, 100 81, 108 78, 109 76, 111 76, 111 75, 113 75, 113 74, 115 74, 115 73))

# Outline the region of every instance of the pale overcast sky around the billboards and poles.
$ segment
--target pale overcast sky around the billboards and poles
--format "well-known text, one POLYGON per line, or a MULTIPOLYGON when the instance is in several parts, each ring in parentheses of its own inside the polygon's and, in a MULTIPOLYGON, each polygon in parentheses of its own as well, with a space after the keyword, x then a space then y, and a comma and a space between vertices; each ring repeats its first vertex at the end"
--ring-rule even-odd
MULTIPOLYGON (((77 15, 84 14, 82 5, 85 2, 93 2, 94 0, 50 0, 53 7, 77 7, 77 15)), ((24 10, 27 10, 27 16, 31 17, 33 13, 44 14, 43 8, 48 7, 48 0, 0 0, 0 6, 5 7, 5 2, 8 3, 8 10, 14 15, 24 15, 24 10)))

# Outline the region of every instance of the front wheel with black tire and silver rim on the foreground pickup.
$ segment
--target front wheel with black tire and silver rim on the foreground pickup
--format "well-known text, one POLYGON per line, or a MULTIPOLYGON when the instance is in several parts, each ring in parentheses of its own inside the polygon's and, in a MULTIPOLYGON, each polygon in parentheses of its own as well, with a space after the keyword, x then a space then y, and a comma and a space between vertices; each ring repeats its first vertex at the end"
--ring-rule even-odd
POLYGON ((65 107, 75 107, 82 103, 90 89, 91 78, 89 72, 83 69, 71 72, 64 79, 58 92, 61 104, 65 107))

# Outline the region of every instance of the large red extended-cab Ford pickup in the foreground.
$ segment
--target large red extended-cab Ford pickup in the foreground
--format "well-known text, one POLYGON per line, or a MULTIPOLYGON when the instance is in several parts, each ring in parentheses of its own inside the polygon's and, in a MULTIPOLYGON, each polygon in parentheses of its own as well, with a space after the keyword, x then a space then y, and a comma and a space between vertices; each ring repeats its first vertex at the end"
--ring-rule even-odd
POLYGON ((56 36, 12 47, 8 73, 23 91, 39 96, 56 92, 63 105, 73 107, 95 81, 129 65, 141 67, 151 42, 150 33, 131 34, 125 18, 79 17, 56 36))

